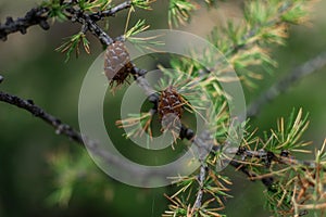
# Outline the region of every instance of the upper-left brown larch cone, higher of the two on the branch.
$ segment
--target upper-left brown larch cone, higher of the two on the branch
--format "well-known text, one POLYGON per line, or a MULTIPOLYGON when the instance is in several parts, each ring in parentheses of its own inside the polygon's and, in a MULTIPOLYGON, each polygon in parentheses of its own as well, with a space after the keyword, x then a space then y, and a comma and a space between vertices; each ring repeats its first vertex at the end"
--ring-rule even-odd
POLYGON ((124 84, 133 72, 129 53, 122 41, 115 41, 108 46, 104 55, 104 73, 113 87, 124 84))

